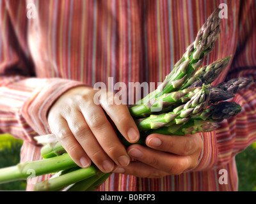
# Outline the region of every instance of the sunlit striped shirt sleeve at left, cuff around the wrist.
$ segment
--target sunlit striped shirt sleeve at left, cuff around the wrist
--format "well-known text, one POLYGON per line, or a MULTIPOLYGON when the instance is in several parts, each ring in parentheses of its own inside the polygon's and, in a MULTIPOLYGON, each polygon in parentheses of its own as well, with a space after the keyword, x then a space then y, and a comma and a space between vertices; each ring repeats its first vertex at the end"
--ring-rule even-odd
POLYGON ((47 112, 52 103, 68 89, 84 84, 36 78, 26 41, 28 19, 23 15, 16 22, 15 13, 26 11, 19 2, 0 1, 0 133, 35 143, 33 136, 50 133, 47 112))

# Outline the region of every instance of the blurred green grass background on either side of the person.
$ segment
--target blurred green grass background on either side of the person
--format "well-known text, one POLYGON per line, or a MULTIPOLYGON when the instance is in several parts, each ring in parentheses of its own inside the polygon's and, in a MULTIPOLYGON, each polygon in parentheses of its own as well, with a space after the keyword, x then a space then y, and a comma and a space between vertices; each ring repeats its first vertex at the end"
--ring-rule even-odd
MULTIPOLYGON (((0 135, 0 168, 19 163, 22 140, 13 136, 0 135)), ((239 191, 256 191, 256 142, 237 154, 237 171, 239 174, 239 191)), ((0 184, 0 191, 25 191, 26 181, 0 184)))

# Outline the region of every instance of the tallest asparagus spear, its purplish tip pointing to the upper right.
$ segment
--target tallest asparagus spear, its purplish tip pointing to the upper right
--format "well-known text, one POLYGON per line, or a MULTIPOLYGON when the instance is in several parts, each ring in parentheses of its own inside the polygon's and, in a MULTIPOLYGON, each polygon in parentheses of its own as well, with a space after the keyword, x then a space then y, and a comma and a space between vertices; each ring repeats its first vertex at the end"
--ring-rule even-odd
POLYGON ((220 34, 221 19, 219 12, 220 9, 218 8, 207 19, 200 31, 198 31, 196 40, 189 45, 186 53, 175 64, 173 71, 166 76, 164 82, 137 104, 147 103, 150 99, 178 90, 189 76, 200 68, 204 62, 204 57, 212 51, 220 34))

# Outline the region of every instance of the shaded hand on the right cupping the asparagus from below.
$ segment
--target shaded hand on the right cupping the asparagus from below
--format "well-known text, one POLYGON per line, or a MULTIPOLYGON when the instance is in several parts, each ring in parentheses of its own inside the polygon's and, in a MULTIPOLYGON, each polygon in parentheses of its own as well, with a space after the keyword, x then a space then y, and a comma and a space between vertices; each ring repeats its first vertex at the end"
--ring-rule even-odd
POLYGON ((196 167, 203 148, 199 133, 187 136, 153 134, 147 137, 146 144, 148 147, 128 147, 129 156, 136 161, 118 167, 114 172, 145 178, 179 175, 196 167))

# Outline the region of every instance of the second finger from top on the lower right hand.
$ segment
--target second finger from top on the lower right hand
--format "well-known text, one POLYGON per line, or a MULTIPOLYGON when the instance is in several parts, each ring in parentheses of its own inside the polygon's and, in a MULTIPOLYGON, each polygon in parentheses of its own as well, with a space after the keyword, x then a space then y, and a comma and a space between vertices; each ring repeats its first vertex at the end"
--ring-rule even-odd
POLYGON ((131 145, 127 151, 132 158, 172 175, 179 175, 196 162, 190 156, 177 156, 141 145, 131 145))

